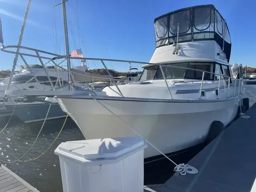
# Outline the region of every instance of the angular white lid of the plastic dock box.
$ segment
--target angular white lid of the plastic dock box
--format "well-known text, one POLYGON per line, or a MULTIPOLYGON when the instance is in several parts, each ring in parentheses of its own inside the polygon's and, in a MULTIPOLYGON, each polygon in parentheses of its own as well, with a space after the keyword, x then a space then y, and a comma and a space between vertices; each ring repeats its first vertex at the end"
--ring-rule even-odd
POLYGON ((63 142, 54 153, 81 164, 112 164, 146 147, 142 137, 105 138, 63 142))

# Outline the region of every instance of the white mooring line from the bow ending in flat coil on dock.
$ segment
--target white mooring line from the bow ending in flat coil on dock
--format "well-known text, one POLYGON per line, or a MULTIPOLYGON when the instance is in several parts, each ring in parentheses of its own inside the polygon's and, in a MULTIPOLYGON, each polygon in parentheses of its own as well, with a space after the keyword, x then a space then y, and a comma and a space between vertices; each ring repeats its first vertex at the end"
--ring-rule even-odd
MULTIPOLYGON (((106 110, 108 110, 110 113, 112 113, 116 118, 118 118, 120 121, 122 121, 128 128, 130 128, 134 133, 136 133, 138 136, 142 137, 138 132, 136 132, 133 128, 131 128, 126 122, 124 122, 120 117, 118 117, 114 112, 112 112, 109 108, 107 108, 104 104, 102 104, 99 100, 97 100, 94 96, 89 94, 94 100, 96 100, 100 105, 102 105, 106 110)), ((145 139, 145 138, 144 138, 145 139)), ((186 175, 186 173, 190 174, 196 174, 198 170, 194 168, 193 166, 190 166, 188 164, 176 164, 173 160, 171 160, 168 156, 166 156, 163 152, 161 152, 158 148, 156 148, 153 144, 151 144, 148 140, 145 139, 145 141, 150 144, 154 149, 156 149, 160 154, 162 154, 164 157, 166 157, 168 160, 170 160, 176 167, 174 168, 174 171, 178 174, 186 175)))

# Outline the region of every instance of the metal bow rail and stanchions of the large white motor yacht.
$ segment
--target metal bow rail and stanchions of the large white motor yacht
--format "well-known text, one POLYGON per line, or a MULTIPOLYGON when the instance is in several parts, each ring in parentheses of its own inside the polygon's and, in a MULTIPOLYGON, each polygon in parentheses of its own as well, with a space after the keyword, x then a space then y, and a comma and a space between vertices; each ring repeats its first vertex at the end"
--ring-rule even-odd
MULTIPOLYGON (((198 70, 198 69, 192 69, 192 68, 186 68, 186 67, 180 67, 180 66, 173 66, 173 65, 169 65, 169 64, 158 64, 158 63, 149 63, 149 62, 138 62, 138 61, 129 61, 129 60, 114 60, 114 59, 102 59, 102 58, 77 58, 77 57, 70 57, 70 56, 63 56, 63 55, 58 55, 58 54, 54 54, 54 53, 50 53, 50 52, 46 52, 46 51, 43 51, 43 50, 38 50, 38 49, 34 49, 34 48, 29 48, 29 47, 25 47, 25 46, 3 46, 1 47, 1 50, 3 52, 7 52, 7 53, 12 53, 12 54, 18 54, 24 64, 27 66, 28 70, 30 70, 30 72, 33 74, 30 66, 28 65, 28 63, 26 62, 24 56, 29 56, 29 57, 34 57, 34 58, 38 58, 39 61, 40 61, 40 64, 42 65, 44 71, 46 72, 46 75, 47 75, 47 78, 50 82, 50 85, 52 86, 53 90, 55 90, 54 88, 54 85, 52 84, 52 80, 50 79, 49 75, 48 75, 48 72, 46 71, 46 68, 45 68, 45 64, 42 62, 42 59, 46 59, 48 60, 47 63, 50 63, 52 62, 54 64, 54 66, 56 68, 61 68, 62 70, 66 70, 68 71, 67 69, 63 68, 62 66, 60 66, 60 64, 62 62, 64 62, 66 59, 74 59, 74 60, 93 60, 93 61, 100 61, 102 63, 102 65, 104 66, 104 68, 106 69, 108 75, 110 76, 110 78, 103 78, 103 77, 97 77, 97 78, 102 78, 102 79, 110 79, 114 85, 116 86, 118 92, 120 93, 120 96, 124 97, 124 95, 122 94, 121 90, 119 89, 119 87, 117 86, 114 78, 112 77, 112 75, 110 74, 108 68, 106 67, 106 64, 104 63, 105 62, 120 62, 120 63, 134 63, 134 64, 149 64, 149 65, 152 65, 152 66, 159 66, 160 67, 160 70, 161 70, 161 73, 162 73, 162 76, 164 78, 164 81, 166 83, 166 87, 168 89, 168 92, 170 94, 170 98, 173 99, 172 97, 172 94, 170 92, 170 88, 168 86, 168 82, 166 80, 166 77, 164 75, 164 71, 162 69, 162 66, 165 66, 165 67, 172 67, 172 68, 182 68, 182 69, 187 69, 187 70, 194 70, 194 71, 198 71, 198 72, 202 72, 202 80, 201 80, 201 86, 200 86, 200 91, 199 91, 199 95, 198 95, 198 99, 201 99, 201 93, 202 93, 202 89, 203 89, 203 84, 204 82, 206 82, 206 80, 204 80, 204 77, 205 77, 205 73, 208 73, 208 74, 212 74, 212 75, 216 75, 216 76, 220 76, 219 78, 219 82, 218 82, 218 93, 220 92, 220 84, 221 84, 221 81, 223 82, 224 84, 224 89, 226 91, 226 86, 225 86, 225 80, 228 80, 228 93, 226 94, 226 98, 230 98, 232 96, 230 96, 232 93, 230 93, 230 80, 234 80, 234 97, 235 96, 239 96, 239 95, 242 95, 243 94, 243 88, 242 88, 242 79, 236 79, 236 78, 232 78, 232 77, 229 77, 229 76, 225 76, 224 74, 216 74, 216 73, 213 73, 213 72, 207 72, 207 71, 203 71, 203 70, 198 70), (34 52, 34 54, 28 54, 28 53, 23 53, 23 52, 16 52, 16 51, 11 51, 9 49, 11 48, 20 48, 20 51, 21 50, 29 50, 31 52, 34 52), (48 56, 40 56, 40 54, 46 54, 48 56), (54 59, 53 57, 55 58, 58 58, 58 59, 64 59, 62 62, 60 62, 60 64, 56 64, 56 62, 54 62, 54 59), (236 81, 238 81, 238 94, 236 94, 236 81), (240 91, 241 90, 241 91, 240 91)), ((71 81, 69 82, 70 84, 74 81, 74 78, 73 78, 73 75, 72 74, 79 74, 79 75, 82 75, 82 76, 89 76, 89 77, 92 77, 92 75, 90 74, 80 74, 80 73, 77 73, 77 72, 73 72, 71 71, 70 73, 71 75, 71 81)), ((58 72, 57 72, 57 76, 58 76, 58 81, 60 82, 60 78, 59 78, 59 75, 58 75, 58 72)), ((36 82, 39 84, 40 86, 40 82, 37 80, 36 76, 34 75, 34 78, 36 80, 36 82)), ((154 77, 153 77, 154 78, 154 77)), ((152 78, 152 79, 153 79, 152 78)), ((12 76, 10 76, 10 81, 12 80, 12 76)), ((195 81, 190 81, 192 83, 194 82, 198 82, 198 80, 195 80, 195 81)), ((176 83, 176 82, 175 82, 176 83)), ((42 86, 40 86, 40 88, 42 89, 42 86)), ((43 89, 42 89, 43 90, 43 89)), ((217 98, 216 99, 219 99, 219 94, 217 94, 217 98)))

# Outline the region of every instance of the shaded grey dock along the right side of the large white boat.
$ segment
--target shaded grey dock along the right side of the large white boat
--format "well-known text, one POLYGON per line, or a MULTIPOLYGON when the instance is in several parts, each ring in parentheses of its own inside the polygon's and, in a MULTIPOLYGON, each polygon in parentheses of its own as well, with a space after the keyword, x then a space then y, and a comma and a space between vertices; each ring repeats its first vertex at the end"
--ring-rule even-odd
POLYGON ((256 191, 256 104, 246 115, 250 118, 238 118, 188 162, 197 174, 174 174, 164 184, 144 186, 144 192, 256 191))

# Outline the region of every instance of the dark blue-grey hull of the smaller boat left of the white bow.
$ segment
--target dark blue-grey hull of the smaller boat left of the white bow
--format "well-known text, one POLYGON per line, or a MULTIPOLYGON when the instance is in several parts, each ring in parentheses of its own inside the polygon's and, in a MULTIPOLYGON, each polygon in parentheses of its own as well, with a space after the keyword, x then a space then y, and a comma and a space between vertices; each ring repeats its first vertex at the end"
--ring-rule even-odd
MULTIPOLYGON (((14 110, 13 114, 23 122, 30 123, 44 120, 50 104, 37 102, 17 103, 16 106, 15 104, 5 104, 4 106, 11 112, 14 110)), ((64 112, 58 104, 52 104, 46 120, 62 118, 65 116, 66 112, 64 112)))

